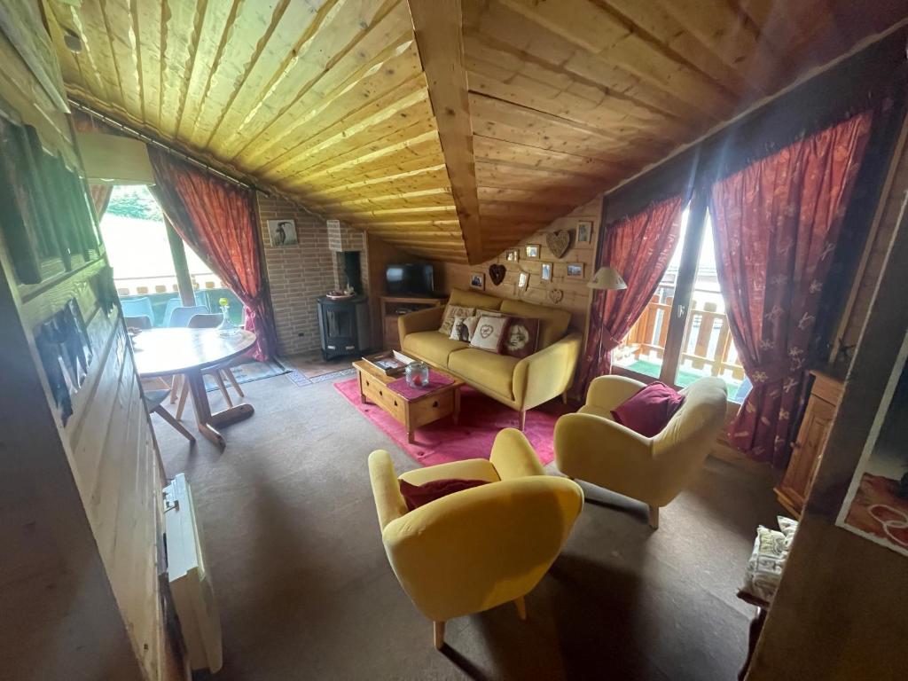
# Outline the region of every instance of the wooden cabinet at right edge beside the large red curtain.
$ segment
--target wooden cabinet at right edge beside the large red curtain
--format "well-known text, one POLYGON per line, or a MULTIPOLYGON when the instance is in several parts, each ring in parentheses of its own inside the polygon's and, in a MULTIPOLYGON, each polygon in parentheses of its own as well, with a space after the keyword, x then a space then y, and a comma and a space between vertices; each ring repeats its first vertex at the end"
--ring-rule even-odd
POLYGON ((835 409, 842 397, 842 381, 822 371, 811 371, 814 384, 804 410, 804 420, 798 429, 792 458, 785 477, 775 488, 775 496, 789 513, 801 518, 804 499, 814 484, 816 469, 823 458, 826 438, 833 424, 835 409))

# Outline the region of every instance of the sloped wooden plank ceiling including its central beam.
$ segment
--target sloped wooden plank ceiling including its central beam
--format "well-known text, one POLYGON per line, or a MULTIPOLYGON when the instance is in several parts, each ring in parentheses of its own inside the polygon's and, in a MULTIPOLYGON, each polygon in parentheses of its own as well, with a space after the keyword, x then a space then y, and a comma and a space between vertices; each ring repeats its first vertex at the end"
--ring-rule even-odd
POLYGON ((906 15, 903 0, 44 4, 75 100, 454 262, 498 254, 906 15))

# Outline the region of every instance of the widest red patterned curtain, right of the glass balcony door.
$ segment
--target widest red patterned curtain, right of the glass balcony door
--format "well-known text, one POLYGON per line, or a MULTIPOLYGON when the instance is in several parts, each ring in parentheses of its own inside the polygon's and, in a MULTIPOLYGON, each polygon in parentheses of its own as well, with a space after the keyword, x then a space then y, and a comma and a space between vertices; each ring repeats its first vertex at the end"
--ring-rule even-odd
POLYGON ((728 320, 754 389, 728 431, 751 458, 782 467, 803 407, 814 325, 854 178, 867 112, 716 182, 710 212, 728 320))

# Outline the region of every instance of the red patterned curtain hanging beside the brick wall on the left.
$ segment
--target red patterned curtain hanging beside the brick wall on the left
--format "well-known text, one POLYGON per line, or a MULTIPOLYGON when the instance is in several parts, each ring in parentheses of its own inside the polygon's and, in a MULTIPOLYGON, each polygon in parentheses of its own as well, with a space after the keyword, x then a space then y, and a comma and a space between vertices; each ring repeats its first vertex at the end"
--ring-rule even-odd
POLYGON ((173 229, 192 246, 245 305, 245 327, 258 341, 256 360, 273 356, 274 331, 268 311, 252 191, 206 173, 149 145, 155 184, 150 187, 173 229))

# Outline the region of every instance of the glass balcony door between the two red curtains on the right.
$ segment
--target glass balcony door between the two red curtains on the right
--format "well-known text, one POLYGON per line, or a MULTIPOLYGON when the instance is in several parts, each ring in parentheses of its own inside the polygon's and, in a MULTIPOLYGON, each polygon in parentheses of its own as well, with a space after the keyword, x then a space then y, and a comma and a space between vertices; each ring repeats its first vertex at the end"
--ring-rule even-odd
POLYGON ((617 372, 684 388, 703 376, 725 380, 728 399, 749 390, 725 317, 712 225, 704 205, 681 216, 678 246, 640 319, 613 357, 617 372))

